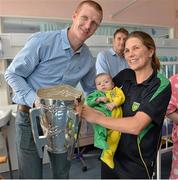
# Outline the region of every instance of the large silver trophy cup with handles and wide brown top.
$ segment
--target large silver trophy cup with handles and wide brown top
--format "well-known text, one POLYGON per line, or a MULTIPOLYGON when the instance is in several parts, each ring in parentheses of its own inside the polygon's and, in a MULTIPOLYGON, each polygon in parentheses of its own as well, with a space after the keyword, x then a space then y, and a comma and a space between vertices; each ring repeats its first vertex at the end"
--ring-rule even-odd
POLYGON ((39 156, 44 146, 52 153, 68 153, 72 159, 81 121, 74 110, 74 102, 82 101, 83 93, 70 85, 41 88, 37 91, 41 108, 30 110, 34 141, 39 156), (40 124, 43 135, 39 135, 40 124))

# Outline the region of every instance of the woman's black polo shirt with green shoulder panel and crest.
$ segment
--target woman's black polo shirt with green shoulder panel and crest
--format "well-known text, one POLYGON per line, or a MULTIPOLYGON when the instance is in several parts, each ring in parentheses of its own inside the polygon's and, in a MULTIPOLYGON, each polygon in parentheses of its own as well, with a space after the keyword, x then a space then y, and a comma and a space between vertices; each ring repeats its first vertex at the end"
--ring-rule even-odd
POLYGON ((141 84, 135 73, 125 69, 113 81, 125 94, 123 116, 133 116, 138 111, 148 114, 152 122, 138 136, 122 133, 115 153, 115 169, 120 178, 148 178, 153 172, 165 112, 171 97, 169 80, 156 70, 141 84), (140 150, 139 150, 140 149, 140 150), (146 165, 146 167, 145 167, 146 165))

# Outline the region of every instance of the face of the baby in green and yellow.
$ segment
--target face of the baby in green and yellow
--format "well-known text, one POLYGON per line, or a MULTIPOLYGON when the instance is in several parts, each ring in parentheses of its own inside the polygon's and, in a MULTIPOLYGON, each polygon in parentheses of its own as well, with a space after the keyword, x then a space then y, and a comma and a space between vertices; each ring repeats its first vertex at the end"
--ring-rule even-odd
POLYGON ((108 75, 102 75, 96 78, 95 80, 96 89, 99 91, 108 91, 114 87, 112 79, 108 75))

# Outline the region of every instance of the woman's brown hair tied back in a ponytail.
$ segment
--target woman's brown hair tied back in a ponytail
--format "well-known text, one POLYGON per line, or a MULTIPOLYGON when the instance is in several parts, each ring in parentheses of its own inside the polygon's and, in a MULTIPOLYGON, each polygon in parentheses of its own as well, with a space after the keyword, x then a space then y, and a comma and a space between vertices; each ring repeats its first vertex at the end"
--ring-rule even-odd
POLYGON ((160 61, 156 56, 156 45, 153 38, 149 34, 143 31, 133 31, 128 35, 127 39, 131 37, 136 37, 140 39, 140 41, 142 41, 144 46, 146 46, 148 49, 153 49, 154 53, 152 56, 152 67, 153 69, 160 70, 160 61))

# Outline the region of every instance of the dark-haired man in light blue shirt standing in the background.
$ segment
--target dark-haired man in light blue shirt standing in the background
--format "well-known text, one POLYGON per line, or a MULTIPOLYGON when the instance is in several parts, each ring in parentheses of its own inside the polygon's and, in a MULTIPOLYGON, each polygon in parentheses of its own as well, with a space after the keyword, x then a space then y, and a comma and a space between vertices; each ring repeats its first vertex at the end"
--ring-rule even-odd
POLYGON ((108 73, 114 77, 121 70, 128 68, 128 64, 123 57, 125 40, 128 31, 124 28, 117 29, 113 36, 113 47, 106 51, 101 51, 96 59, 96 73, 108 73))

